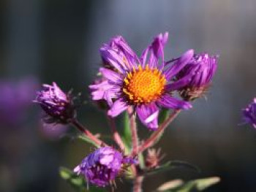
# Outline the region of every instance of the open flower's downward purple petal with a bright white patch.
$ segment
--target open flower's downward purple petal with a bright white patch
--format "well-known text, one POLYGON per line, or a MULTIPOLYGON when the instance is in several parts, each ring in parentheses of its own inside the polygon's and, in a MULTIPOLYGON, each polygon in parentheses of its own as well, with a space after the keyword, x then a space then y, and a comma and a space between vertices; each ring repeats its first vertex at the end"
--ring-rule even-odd
POLYGON ((150 128, 151 130, 156 130, 158 128, 158 115, 159 109, 156 104, 141 104, 136 107, 136 112, 140 121, 150 128))

